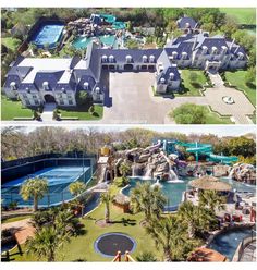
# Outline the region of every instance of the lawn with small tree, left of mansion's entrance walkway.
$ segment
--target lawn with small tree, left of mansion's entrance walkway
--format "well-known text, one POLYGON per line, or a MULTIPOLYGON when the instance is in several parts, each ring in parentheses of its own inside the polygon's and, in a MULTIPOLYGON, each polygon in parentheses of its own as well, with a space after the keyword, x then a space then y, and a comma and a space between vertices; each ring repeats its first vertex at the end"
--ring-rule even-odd
POLYGON ((182 70, 181 71, 182 78, 182 93, 174 94, 176 97, 179 96, 200 96, 199 89, 204 84, 206 84, 206 77, 203 71, 194 71, 194 70, 182 70), (189 81, 191 73, 194 72, 197 75, 196 83, 192 84, 189 81))

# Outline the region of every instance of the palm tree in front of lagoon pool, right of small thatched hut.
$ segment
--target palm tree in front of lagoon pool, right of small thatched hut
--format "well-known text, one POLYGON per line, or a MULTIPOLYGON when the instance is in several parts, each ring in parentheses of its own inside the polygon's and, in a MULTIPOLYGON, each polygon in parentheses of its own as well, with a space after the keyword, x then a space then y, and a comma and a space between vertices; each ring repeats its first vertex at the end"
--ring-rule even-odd
POLYGON ((159 186, 151 186, 150 183, 137 183, 131 191, 131 204, 134 212, 144 212, 145 220, 151 217, 159 217, 162 212, 167 198, 159 186))

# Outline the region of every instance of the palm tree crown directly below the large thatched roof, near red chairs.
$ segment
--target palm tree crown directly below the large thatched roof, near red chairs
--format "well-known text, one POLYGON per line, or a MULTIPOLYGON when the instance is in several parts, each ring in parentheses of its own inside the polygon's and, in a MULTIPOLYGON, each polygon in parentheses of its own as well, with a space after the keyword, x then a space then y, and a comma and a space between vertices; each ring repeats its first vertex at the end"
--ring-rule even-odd
POLYGON ((215 214, 216 209, 221 210, 225 208, 225 197, 218 194, 216 191, 203 191, 199 194, 199 206, 207 206, 215 214))

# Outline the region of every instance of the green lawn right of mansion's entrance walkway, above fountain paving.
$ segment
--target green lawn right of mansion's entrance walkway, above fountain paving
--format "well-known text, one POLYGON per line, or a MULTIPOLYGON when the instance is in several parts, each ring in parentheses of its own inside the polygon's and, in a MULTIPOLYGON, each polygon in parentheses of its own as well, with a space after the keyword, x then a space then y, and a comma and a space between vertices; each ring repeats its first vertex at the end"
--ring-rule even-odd
POLYGON ((253 88, 245 84, 245 75, 247 71, 235 71, 235 72, 225 72, 225 79, 231 83, 231 85, 236 86, 240 90, 244 91, 248 97, 250 102, 256 106, 256 82, 253 85, 253 88))

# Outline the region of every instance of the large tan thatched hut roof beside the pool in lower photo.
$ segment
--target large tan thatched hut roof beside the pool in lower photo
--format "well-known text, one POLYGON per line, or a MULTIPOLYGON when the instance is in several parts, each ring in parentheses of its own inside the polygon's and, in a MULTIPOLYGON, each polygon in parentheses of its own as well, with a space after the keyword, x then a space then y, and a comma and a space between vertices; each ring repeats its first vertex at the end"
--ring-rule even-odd
POLYGON ((232 189, 230 184, 219 181, 219 179, 210 175, 193 180, 189 182, 189 185, 204 191, 229 192, 232 189))

